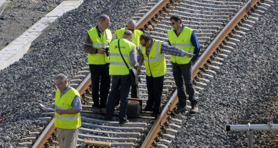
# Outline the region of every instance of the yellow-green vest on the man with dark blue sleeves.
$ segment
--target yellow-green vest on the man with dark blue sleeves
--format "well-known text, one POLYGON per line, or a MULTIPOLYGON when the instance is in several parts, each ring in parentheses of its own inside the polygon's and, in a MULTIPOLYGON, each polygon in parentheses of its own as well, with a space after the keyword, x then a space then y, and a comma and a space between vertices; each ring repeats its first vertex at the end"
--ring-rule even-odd
MULTIPOLYGON (((192 32, 193 30, 191 28, 184 27, 183 31, 179 34, 179 36, 177 36, 174 32, 174 29, 169 30, 167 34, 171 46, 193 54, 194 46, 192 46, 190 41, 192 32)), ((191 59, 192 57, 189 58, 187 56, 179 57, 171 55, 171 61, 177 64, 188 64, 191 59)))

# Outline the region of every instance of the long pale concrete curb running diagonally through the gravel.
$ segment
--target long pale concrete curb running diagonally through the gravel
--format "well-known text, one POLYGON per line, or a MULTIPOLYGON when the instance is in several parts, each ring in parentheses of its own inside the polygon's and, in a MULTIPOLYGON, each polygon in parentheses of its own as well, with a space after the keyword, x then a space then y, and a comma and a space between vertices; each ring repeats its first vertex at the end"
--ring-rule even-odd
POLYGON ((0 51, 0 70, 8 67, 20 58, 29 50, 31 43, 44 31, 49 24, 53 23, 58 17, 65 12, 73 10, 80 6, 83 0, 63 1, 51 12, 46 14, 37 23, 25 31, 22 35, 12 41, 9 45, 0 51))

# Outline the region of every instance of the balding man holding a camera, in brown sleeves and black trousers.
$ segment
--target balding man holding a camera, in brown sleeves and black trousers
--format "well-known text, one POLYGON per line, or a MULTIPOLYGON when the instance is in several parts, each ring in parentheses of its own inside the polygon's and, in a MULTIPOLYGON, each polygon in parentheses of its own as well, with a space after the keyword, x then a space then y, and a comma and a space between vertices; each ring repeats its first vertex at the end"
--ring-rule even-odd
POLYGON ((92 82, 93 112, 106 110, 106 102, 110 88, 109 55, 106 50, 112 41, 112 33, 108 28, 110 18, 102 14, 96 27, 87 31, 83 50, 88 54, 92 82), (100 86, 99 86, 100 84, 100 86), (100 98, 100 99, 99 99, 100 98))

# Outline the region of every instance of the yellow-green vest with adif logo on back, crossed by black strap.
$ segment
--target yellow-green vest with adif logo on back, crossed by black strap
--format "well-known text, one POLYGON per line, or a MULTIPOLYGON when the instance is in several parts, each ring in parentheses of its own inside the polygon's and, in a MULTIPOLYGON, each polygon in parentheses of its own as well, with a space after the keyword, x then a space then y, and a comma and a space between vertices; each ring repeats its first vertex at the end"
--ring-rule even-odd
POLYGON ((109 45, 110 48, 110 66, 109 75, 128 75, 129 71, 120 55, 118 48, 118 40, 120 40, 120 49, 125 62, 128 64, 129 69, 132 69, 131 60, 129 57, 130 52, 136 47, 127 39, 116 39, 109 45))

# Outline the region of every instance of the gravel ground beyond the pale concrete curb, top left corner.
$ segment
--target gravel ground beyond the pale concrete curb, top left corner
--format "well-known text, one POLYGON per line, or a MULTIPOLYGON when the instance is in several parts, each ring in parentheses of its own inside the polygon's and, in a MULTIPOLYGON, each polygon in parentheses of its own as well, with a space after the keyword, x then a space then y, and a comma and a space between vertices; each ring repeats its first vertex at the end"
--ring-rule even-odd
MULTIPOLYGON (((53 10, 61 1, 9 1, 3 14, 0 16, 0 50, 53 10)), ((2 11, 2 8, 0 11, 2 11)))

